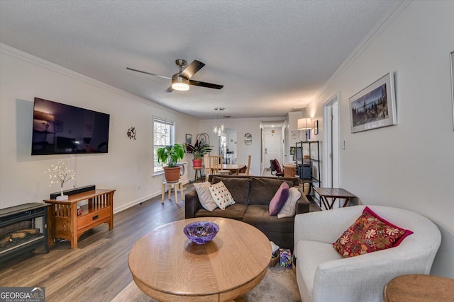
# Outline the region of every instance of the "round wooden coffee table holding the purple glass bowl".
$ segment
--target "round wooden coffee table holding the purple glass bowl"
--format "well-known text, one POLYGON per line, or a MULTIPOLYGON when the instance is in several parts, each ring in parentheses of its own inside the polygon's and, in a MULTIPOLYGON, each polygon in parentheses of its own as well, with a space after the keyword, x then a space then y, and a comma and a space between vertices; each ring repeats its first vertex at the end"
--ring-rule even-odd
POLYGON ((271 254, 270 240, 258 228, 204 217, 145 234, 131 248, 128 264, 139 289, 159 301, 229 301, 265 277, 271 254), (192 243, 183 228, 194 221, 213 221, 219 232, 209 243, 192 243))

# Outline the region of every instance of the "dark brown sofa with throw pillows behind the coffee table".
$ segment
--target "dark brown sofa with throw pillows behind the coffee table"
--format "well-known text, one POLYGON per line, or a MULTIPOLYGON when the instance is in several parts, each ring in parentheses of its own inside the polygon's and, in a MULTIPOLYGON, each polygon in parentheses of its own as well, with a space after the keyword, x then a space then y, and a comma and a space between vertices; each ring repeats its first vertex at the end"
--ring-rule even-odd
POLYGON ((269 204, 282 182, 287 182, 289 187, 298 187, 301 197, 297 201, 297 214, 309 212, 309 201, 304 196, 297 178, 275 178, 267 176, 238 176, 238 175, 210 175, 209 182, 223 181, 231 192, 235 204, 225 210, 204 209, 196 191, 185 196, 185 216, 194 217, 225 217, 237 219, 260 229, 265 235, 281 248, 293 249, 294 217, 278 219, 270 216, 269 204))

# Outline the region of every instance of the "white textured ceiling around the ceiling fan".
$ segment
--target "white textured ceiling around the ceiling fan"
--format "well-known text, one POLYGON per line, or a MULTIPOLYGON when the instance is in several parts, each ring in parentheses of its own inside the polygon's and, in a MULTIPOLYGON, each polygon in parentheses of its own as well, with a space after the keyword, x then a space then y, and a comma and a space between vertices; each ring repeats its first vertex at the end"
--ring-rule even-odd
POLYGON ((199 119, 285 117, 400 2, 0 0, 0 42, 199 119), (175 59, 224 88, 165 93, 170 80, 126 70, 172 76, 175 59))

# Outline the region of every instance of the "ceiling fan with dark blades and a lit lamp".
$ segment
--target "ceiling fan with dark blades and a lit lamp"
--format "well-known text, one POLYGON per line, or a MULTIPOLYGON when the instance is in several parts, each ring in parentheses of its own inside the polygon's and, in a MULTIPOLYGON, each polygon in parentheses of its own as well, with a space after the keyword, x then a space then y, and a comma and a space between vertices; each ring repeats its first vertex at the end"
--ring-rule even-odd
POLYGON ((162 79, 172 80, 172 85, 169 88, 167 88, 167 90, 165 92, 172 92, 174 90, 187 91, 187 90, 189 90, 189 85, 201 86, 201 87, 206 87, 206 88, 214 88, 214 89, 223 88, 223 85, 191 80, 192 76, 194 76, 194 74, 197 71, 199 71, 203 66, 205 66, 204 63, 194 60, 194 61, 192 61, 191 64, 186 66, 187 62, 184 59, 177 59, 177 60, 175 60, 175 64, 177 64, 177 66, 179 66, 179 72, 177 72, 177 74, 174 74, 172 76, 172 78, 170 78, 169 76, 161 76, 159 74, 152 74, 151 72, 132 69, 129 67, 126 67, 126 69, 132 70, 132 71, 137 71, 142 74, 150 74, 152 76, 159 76, 162 79), (184 67, 186 67, 186 68, 184 68, 184 67))

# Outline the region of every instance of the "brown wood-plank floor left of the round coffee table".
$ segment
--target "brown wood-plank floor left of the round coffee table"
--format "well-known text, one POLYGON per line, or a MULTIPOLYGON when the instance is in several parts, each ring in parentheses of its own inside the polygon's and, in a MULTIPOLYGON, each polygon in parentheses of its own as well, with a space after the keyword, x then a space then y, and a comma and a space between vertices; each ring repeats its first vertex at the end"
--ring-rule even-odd
MULTIPOLYGON (((184 186, 184 194, 194 190, 184 186)), ((153 228, 184 219, 184 202, 157 196, 114 215, 114 229, 101 226, 79 238, 79 247, 55 243, 0 263, 0 286, 45 287, 46 301, 111 301, 133 281, 128 254, 135 241, 153 228)))

